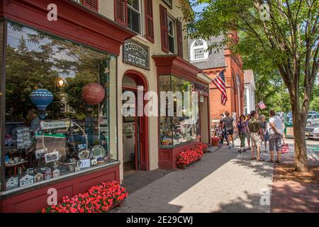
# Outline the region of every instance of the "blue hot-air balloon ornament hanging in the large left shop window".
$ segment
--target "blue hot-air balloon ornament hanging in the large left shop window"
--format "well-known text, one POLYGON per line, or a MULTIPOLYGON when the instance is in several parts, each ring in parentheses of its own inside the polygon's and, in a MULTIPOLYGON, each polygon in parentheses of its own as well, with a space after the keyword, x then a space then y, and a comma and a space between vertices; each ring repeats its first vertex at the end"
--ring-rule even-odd
POLYGON ((36 89, 30 94, 30 99, 37 106, 40 119, 45 118, 45 109, 53 101, 53 94, 47 89, 36 89))

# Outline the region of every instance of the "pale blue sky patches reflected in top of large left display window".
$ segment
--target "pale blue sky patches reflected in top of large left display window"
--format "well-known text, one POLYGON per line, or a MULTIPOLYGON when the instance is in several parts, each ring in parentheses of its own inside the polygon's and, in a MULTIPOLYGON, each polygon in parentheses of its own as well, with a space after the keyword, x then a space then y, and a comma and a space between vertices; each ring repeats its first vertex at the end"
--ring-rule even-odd
MULTIPOLYGON (((28 51, 36 51, 36 52, 41 52, 41 45, 47 45, 48 43, 52 42, 52 39, 47 38, 47 37, 42 37, 39 39, 38 43, 33 43, 28 35, 38 35, 37 31, 34 31, 30 28, 23 27, 22 31, 14 31, 13 27, 8 24, 8 40, 7 43, 10 45, 12 48, 16 49, 18 48, 18 45, 20 44, 21 36, 23 37, 24 40, 26 40, 26 45, 28 48, 28 51)), ((57 45, 52 47, 52 50, 54 52, 54 55, 50 57, 50 61, 54 62, 54 59, 59 59, 59 60, 67 60, 70 62, 76 62, 77 59, 76 57, 69 56, 68 55, 68 50, 58 50, 57 45)), ((68 73, 62 72, 61 69, 57 67, 52 67, 52 71, 57 71, 60 72, 59 76, 65 79, 66 77, 74 77, 76 72, 74 70, 67 70, 68 73)))

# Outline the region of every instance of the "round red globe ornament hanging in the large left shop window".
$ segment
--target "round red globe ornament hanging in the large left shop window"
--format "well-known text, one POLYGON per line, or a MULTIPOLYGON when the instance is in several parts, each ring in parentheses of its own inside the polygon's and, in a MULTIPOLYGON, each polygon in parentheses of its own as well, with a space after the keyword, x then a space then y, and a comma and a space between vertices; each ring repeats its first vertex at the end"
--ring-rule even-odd
POLYGON ((82 97, 86 104, 96 105, 103 101, 105 90, 101 84, 92 82, 83 87, 82 97))

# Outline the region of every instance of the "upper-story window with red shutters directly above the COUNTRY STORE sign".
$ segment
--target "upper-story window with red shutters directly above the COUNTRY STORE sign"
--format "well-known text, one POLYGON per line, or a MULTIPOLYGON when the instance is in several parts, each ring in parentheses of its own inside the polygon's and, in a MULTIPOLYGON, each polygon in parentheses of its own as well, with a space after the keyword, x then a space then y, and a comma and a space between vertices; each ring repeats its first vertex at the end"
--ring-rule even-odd
POLYGON ((140 18, 140 0, 128 0, 128 28, 139 34, 141 33, 140 18))

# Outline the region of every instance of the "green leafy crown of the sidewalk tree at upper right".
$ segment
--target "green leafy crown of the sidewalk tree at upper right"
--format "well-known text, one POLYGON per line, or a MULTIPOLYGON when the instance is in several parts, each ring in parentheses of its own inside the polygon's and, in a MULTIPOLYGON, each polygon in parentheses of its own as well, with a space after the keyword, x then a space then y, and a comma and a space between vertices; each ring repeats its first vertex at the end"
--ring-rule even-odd
POLYGON ((260 98, 272 96, 285 84, 291 104, 308 109, 318 72, 318 2, 198 0, 194 4, 207 6, 187 27, 191 38, 223 35, 223 42, 211 48, 227 44, 234 54, 242 55, 245 68, 257 74, 260 98), (261 4, 269 6, 267 21, 262 20, 261 4), (240 39, 230 31, 237 31, 240 39))

